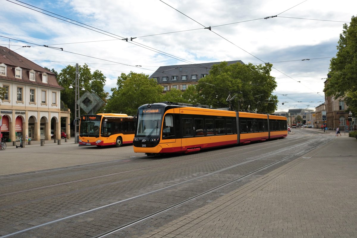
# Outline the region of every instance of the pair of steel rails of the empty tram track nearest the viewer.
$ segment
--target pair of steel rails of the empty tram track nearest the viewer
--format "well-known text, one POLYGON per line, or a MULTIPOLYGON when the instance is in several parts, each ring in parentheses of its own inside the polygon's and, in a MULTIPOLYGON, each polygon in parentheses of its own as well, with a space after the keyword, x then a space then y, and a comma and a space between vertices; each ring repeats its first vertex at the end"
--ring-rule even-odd
MULTIPOLYGON (((316 139, 316 140, 317 140, 317 139, 316 139)), ((311 143, 311 141, 310 141, 310 142, 306 142, 306 143, 302 143, 302 144, 298 144, 298 145, 296 145, 296 147, 297 147, 297 148, 300 148, 300 147, 306 145, 307 143, 311 143)), ((133 224, 136 224, 136 223, 138 223, 138 222, 140 222, 140 221, 144 221, 145 219, 148 219, 148 218, 150 218, 150 217, 152 217, 152 216, 156 216, 157 214, 160 214, 160 213, 163 213, 163 212, 165 212, 165 211, 168 211, 169 209, 173 209, 173 208, 175 208, 175 207, 177 207, 177 206, 180 206, 180 205, 182 205, 182 204, 184 204, 184 203, 187 203, 187 202, 191 201, 192 199, 196 199, 196 198, 198 198, 198 197, 200 197, 200 196, 203 196, 204 194, 207 194, 207 193, 209 193, 209 192, 212 192, 212 191, 215 190, 215 189, 218 189, 218 188, 221 188, 221 187, 223 187, 223 186, 226 186, 227 184, 233 183, 234 181, 237 181, 237 180, 239 180, 239 179, 246 178, 247 176, 249 176, 249 175, 251 175, 251 174, 253 174, 253 173, 256 173, 257 171, 261 171, 262 169, 265 169, 265 168, 267 168, 267 167, 270 167, 270 166, 272 166, 273 164, 276 164, 276 163, 278 163, 278 162, 281 162, 281 161, 283 161, 283 160, 286 160, 286 159, 288 159, 288 158, 291 158, 291 157, 293 157, 293 156, 296 156, 296 155, 298 155, 298 154, 300 154, 300 153, 303 153, 303 152, 305 152, 305 151, 312 150, 313 148, 315 148, 315 147, 321 145, 322 143, 326 143, 326 141, 325 141, 325 142, 317 143, 316 145, 314 145, 314 146, 312 146, 312 147, 308 147, 308 148, 305 148, 305 149, 303 149, 303 150, 300 150, 300 151, 294 153, 293 155, 287 156, 287 157, 282 158, 282 159, 280 159, 280 160, 278 160, 278 161, 276 161, 276 162, 270 163, 270 164, 268 164, 268 165, 266 165, 266 166, 264 166, 264 167, 261 167, 261 168, 259 168, 259 169, 256 169, 255 171, 252 171, 252 172, 250 172, 250 173, 247 173, 247 174, 245 174, 245 175, 243 175, 243 176, 241 176, 241 177, 238 177, 238 178, 236 178, 236 179, 233 179, 233 180, 231 180, 231 181, 229 181, 229 182, 227 182, 227 183, 221 184, 220 186, 216 186, 216 187, 214 187, 214 188, 208 189, 208 190, 205 191, 205 192, 202 192, 202 193, 200 193, 200 194, 197 194, 196 196, 192 196, 192 197, 190 197, 190 198, 187 198, 187 199, 185 199, 184 201, 181 201, 181 202, 179 202, 179 203, 176 203, 176 204, 174 204, 174 205, 172 205, 172 206, 169 206, 169 207, 167 207, 167 208, 165 208, 165 209, 161 209, 160 211, 157 211, 157 212, 155 212, 155 213, 152 213, 152 214, 149 215, 149 216, 145 216, 145 217, 143 217, 143 218, 140 218, 140 219, 137 219, 137 220, 135 220, 135 221, 132 221, 131 223, 127 223, 127 224, 125 224, 125 225, 122 225, 122 226, 120 226, 120 227, 117 227, 115 230, 112 229, 112 230, 109 231, 109 232, 114 233, 114 232, 116 232, 116 231, 120 231, 121 229, 124 229, 124 228, 126 228, 126 227, 132 226, 133 224)), ((291 149, 292 149, 292 147, 288 147, 288 148, 285 148, 284 150, 277 151, 276 153, 281 153, 281 152, 283 152, 283 151, 291 150, 291 149)), ((223 159, 227 159, 227 158, 223 158, 223 159)), ((91 213, 91 212, 94 212, 94 211, 98 211, 98 210, 100 210, 100 209, 104 209, 104 208, 107 208, 107 207, 110 207, 110 206, 114 206, 114 205, 117 205, 117 204, 120 204, 120 203, 123 203, 123 202, 130 201, 130 200, 132 200, 132 199, 136 199, 136 198, 139 198, 139 197, 147 196, 147 195, 152 194, 152 193, 157 193, 157 192, 162 191, 162 190, 165 190, 165 189, 170 189, 170 188, 172 188, 172 187, 174 187, 174 186, 179 186, 179 185, 182 185, 182 184, 184 184, 184 183, 189 183, 189 182, 195 181, 195 180, 197 180, 197 179, 202 179, 202 178, 204 178, 204 177, 212 176, 213 174, 217 174, 217 173, 220 173, 220 172, 222 172, 222 171, 226 171, 226 170, 232 169, 233 167, 241 166, 242 164, 250 163, 250 162, 253 162, 253 161, 256 161, 256 160, 259 160, 259 159, 261 159, 261 158, 256 158, 256 159, 254 159, 254 160, 249 160, 249 161, 245 161, 245 162, 242 162, 242 163, 238 163, 238 164, 235 164, 235 165, 233 165, 233 166, 226 167, 226 168, 223 168, 223 169, 214 171, 214 172, 209 173, 209 174, 205 174, 205 175, 202 175, 202 176, 197 176, 197 177, 195 177, 195 178, 188 179, 187 181, 183 181, 183 182, 176 183, 176 184, 173 184, 173 185, 170 185, 170 186, 166 186, 166 187, 163 187, 163 188, 160 188, 160 189, 156 189, 156 190, 153 190, 153 191, 151 191, 151 192, 149 192, 149 193, 141 194, 140 196, 131 197, 131 198, 128 198, 128 199, 124 199, 124 200, 121 200, 121 201, 117 201, 117 202, 115 202, 115 203, 107 204, 107 205, 105 205, 105 206, 97 207, 97 208, 95 208, 95 209, 91 209, 91 210, 88 210, 88 211, 85 211, 85 212, 73 214, 73 215, 71 215, 71 216, 67 216, 67 217, 63 217, 63 218, 60 218, 60 219, 56 219, 56 220, 53 220, 53 221, 50 221, 50 222, 47 222, 47 223, 42 223, 42 224, 40 224, 40 225, 38 225, 38 226, 30 227, 30 228, 23 229, 23 230, 21 230, 21 231, 15 232, 15 233, 7 234, 7 235, 5 235, 5 236, 3 236, 3 237, 14 236, 14 235, 16 235, 16 234, 24 233, 24 232, 27 232, 27 231, 32 231, 33 229, 37 229, 37 228, 40 228, 40 227, 43 227, 43 226, 47 226, 47 225, 50 225, 50 224, 58 223, 58 222, 61 222, 61 221, 66 220, 66 219, 74 218, 74 217, 77 217, 77 216, 82 216, 82 215, 85 215, 85 214, 88 214, 88 213, 91 213)), ((192 165, 190 165, 190 166, 192 166, 192 165)), ((101 235, 98 236, 98 237, 104 237, 104 236, 107 236, 108 234, 111 234, 111 233, 106 232, 105 234, 103 233, 103 234, 101 234, 101 235)))

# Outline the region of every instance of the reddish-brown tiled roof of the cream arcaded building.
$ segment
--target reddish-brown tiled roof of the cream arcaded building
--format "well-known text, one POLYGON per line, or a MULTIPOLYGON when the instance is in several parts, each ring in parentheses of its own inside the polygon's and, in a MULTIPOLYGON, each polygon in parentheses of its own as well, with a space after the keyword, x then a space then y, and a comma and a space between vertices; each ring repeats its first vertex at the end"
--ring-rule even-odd
POLYGON ((56 75, 49 70, 35 64, 34 62, 26 59, 25 57, 17 54, 14 51, 11 51, 9 48, 0 46, 0 64, 6 65, 6 76, 0 75, 0 79, 8 80, 8 81, 17 81, 22 83, 28 83, 33 85, 41 85, 45 87, 54 87, 63 89, 57 82, 56 75), (15 77, 14 68, 20 67, 22 69, 22 76, 20 78, 15 77), (31 81, 29 78, 30 70, 34 70, 35 73, 35 81, 31 81), (40 74, 47 74, 47 83, 43 83, 40 74))

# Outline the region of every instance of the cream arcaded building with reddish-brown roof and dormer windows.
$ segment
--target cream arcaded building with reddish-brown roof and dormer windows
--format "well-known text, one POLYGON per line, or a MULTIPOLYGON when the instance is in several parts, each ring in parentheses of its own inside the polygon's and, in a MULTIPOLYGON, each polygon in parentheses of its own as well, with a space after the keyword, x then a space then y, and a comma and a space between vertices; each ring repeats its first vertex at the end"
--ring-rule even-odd
POLYGON ((21 55, 0 46, 0 86, 6 88, 0 104, 1 133, 5 140, 50 140, 51 130, 61 135, 66 118, 69 135, 70 112, 61 111, 61 87, 56 75, 21 55))

